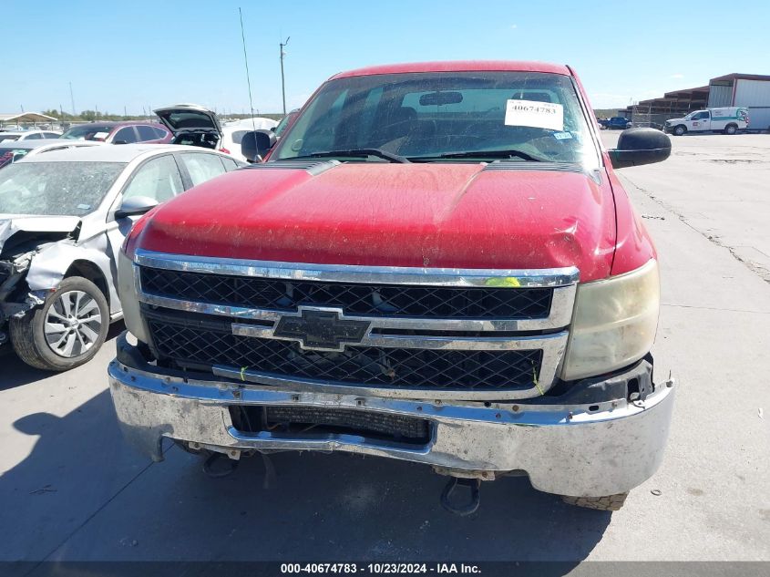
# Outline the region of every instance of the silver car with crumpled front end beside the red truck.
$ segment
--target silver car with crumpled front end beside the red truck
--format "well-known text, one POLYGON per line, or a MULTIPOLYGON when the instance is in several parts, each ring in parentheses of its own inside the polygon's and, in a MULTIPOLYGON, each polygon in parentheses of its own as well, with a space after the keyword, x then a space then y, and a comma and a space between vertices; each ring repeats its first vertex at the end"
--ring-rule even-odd
POLYGON ((0 346, 47 370, 87 362, 122 316, 116 257, 139 215, 239 166, 215 150, 128 144, 0 170, 0 346))

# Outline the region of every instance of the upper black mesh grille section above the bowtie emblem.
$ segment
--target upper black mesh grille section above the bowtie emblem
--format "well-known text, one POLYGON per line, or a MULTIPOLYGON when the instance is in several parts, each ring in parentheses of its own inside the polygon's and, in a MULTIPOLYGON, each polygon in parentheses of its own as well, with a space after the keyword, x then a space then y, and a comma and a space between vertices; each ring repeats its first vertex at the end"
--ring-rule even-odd
POLYGON ((441 318, 546 318, 550 288, 463 288, 283 281, 142 267, 142 291, 187 301, 295 311, 338 306, 347 314, 441 318))

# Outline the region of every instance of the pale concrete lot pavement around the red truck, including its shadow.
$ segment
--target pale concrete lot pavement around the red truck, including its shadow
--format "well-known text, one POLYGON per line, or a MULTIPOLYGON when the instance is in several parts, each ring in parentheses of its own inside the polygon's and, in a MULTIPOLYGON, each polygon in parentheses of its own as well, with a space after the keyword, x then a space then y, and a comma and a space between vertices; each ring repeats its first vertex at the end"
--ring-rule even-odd
POLYGON ((662 469, 623 510, 503 479, 461 519, 425 467, 345 455, 277 455, 267 487, 259 458, 220 480, 177 448, 150 464, 116 426, 110 341, 64 375, 0 359, 0 560, 770 560, 770 136, 674 146, 623 171, 662 263, 656 372, 680 383, 662 469))

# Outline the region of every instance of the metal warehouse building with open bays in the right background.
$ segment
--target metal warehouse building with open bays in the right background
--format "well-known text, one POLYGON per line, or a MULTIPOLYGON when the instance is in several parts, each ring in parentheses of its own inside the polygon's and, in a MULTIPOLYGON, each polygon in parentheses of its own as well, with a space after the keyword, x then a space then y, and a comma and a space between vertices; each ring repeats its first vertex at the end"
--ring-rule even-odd
POLYGON ((662 98, 642 100, 618 113, 634 126, 662 126, 668 118, 693 110, 733 106, 749 108, 749 129, 770 130, 770 76, 728 74, 712 78, 707 87, 666 92, 662 98))

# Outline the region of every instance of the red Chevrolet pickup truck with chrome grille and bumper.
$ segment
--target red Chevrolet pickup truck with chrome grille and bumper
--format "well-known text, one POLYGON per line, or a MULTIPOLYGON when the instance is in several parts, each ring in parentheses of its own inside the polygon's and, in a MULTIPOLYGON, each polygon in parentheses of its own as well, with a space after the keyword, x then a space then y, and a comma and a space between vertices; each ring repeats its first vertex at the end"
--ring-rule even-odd
POLYGON ((658 264, 613 169, 671 142, 629 129, 605 150, 591 115, 570 67, 442 62, 338 74, 280 142, 247 135, 252 167, 121 251, 127 438, 210 467, 423 463, 461 514, 506 475, 618 509, 661 462, 674 386, 652 379, 658 264))

